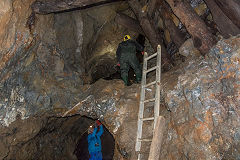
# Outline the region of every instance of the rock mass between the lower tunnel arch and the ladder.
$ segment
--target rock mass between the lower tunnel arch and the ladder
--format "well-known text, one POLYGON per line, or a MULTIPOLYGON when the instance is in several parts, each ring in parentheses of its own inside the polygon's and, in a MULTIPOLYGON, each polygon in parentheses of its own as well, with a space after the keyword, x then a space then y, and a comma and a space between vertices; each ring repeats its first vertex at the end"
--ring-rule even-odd
POLYGON ((129 159, 134 156, 139 96, 139 85, 125 87, 121 80, 99 80, 86 86, 82 100, 63 116, 100 118, 115 138, 115 159, 129 159))

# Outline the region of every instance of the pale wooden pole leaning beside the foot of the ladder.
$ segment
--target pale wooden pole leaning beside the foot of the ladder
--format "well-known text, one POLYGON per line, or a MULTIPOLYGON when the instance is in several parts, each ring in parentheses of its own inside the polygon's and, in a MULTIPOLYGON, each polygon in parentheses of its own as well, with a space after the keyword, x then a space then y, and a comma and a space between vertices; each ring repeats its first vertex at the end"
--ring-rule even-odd
POLYGON ((154 129, 148 160, 159 160, 164 130, 165 118, 163 116, 159 116, 154 129))

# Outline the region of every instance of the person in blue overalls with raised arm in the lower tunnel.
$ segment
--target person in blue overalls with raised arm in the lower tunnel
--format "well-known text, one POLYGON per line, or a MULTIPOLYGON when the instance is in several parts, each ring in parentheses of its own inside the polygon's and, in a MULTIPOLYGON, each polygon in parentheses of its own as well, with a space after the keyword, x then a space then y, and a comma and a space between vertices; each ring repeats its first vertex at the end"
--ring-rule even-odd
POLYGON ((102 144, 101 135, 103 134, 103 126, 101 122, 96 121, 96 126, 90 126, 88 129, 88 152, 90 160, 102 160, 102 144), (98 131, 99 127, 99 131, 98 131))

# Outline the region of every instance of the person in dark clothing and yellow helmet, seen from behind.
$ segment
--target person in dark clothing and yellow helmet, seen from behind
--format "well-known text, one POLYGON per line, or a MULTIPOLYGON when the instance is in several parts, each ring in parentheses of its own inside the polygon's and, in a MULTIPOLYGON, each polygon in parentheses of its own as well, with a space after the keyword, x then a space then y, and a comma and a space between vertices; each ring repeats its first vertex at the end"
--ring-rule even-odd
POLYGON ((117 61, 120 66, 121 77, 124 84, 128 85, 128 71, 129 67, 132 67, 136 74, 137 83, 141 82, 142 69, 136 56, 136 51, 139 50, 143 53, 143 46, 136 41, 131 40, 129 35, 124 36, 124 41, 118 45, 117 49, 117 61))

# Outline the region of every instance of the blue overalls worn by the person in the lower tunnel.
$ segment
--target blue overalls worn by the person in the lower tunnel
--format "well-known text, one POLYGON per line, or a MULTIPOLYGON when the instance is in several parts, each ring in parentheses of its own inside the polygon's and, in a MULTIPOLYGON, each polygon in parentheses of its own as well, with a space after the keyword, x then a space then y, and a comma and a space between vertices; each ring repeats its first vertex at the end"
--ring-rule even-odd
MULTIPOLYGON (((103 126, 99 126, 99 131, 97 132, 97 127, 94 128, 93 133, 88 135, 88 151, 92 157, 92 154, 101 152, 102 144, 101 144, 101 135, 103 134, 103 126)), ((102 155, 102 154, 101 154, 102 155)), ((99 160, 99 159, 98 159, 99 160)))

